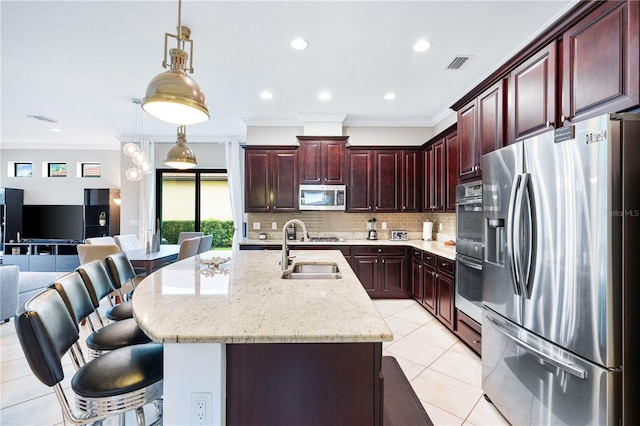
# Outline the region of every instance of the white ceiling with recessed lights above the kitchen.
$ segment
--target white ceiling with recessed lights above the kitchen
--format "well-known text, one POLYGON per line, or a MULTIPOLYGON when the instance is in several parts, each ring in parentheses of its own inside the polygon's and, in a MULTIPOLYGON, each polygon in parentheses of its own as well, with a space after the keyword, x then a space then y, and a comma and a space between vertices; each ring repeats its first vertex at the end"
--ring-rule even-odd
MULTIPOLYGON (((211 112, 187 139, 244 139, 247 125, 301 126, 305 114, 346 114, 349 126, 433 126, 574 2, 185 0, 192 77, 211 112), (309 48, 291 49, 295 37, 309 48), (418 39, 432 48, 413 52, 418 39), (458 55, 471 59, 447 70, 458 55), (274 98, 260 99, 263 90, 274 98), (333 98, 320 101, 322 90, 333 98), (383 99, 389 91, 395 100, 383 99)), ((177 0, 2 0, 0 14, 3 148, 118 149, 130 140, 131 99, 164 71, 177 0)), ((175 126, 142 116, 144 137, 175 141, 175 126)))

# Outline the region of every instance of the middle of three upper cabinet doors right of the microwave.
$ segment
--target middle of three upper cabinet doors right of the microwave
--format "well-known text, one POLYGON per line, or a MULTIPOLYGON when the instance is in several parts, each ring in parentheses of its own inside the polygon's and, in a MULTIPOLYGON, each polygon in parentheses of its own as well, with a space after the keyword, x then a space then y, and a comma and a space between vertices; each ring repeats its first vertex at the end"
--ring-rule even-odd
POLYGON ((378 212, 397 212, 400 200, 400 156, 402 151, 375 151, 373 192, 378 212))

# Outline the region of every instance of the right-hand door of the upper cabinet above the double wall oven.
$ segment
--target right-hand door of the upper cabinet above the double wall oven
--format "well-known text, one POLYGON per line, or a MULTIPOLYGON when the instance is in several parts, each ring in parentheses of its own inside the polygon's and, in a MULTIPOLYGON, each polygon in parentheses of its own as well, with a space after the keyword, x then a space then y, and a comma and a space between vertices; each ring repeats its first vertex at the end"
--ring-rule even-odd
POLYGON ((482 172, 482 156, 502 148, 504 138, 504 87, 500 80, 478 98, 477 164, 482 172))

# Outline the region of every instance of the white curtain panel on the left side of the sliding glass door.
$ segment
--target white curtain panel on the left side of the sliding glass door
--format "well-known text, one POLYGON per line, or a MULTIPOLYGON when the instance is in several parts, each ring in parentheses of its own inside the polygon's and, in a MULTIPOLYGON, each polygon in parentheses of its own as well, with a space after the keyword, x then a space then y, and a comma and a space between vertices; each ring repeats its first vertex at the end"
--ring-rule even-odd
POLYGON ((138 237, 142 247, 146 247, 147 242, 151 243, 151 238, 156 231, 155 144, 153 141, 143 139, 140 141, 140 149, 147 154, 151 162, 151 170, 154 171, 147 175, 143 174, 140 179, 138 237))

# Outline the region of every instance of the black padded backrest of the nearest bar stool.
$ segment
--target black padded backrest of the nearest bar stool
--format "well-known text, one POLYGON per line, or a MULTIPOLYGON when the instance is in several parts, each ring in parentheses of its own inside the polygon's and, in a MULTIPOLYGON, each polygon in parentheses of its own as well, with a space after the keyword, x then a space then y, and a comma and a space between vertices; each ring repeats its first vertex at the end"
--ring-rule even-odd
POLYGON ((16 334, 33 374, 51 387, 64 379, 62 357, 78 341, 78 330, 57 291, 47 289, 15 317, 16 334))

